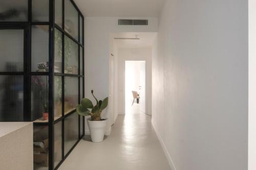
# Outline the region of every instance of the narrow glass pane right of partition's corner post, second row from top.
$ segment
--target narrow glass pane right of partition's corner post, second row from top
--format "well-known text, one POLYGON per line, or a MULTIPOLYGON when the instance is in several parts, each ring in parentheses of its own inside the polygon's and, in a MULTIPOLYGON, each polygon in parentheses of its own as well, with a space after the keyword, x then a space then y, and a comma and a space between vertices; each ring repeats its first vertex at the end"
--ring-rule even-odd
POLYGON ((61 72, 62 69, 62 33, 55 29, 54 32, 54 72, 61 72))

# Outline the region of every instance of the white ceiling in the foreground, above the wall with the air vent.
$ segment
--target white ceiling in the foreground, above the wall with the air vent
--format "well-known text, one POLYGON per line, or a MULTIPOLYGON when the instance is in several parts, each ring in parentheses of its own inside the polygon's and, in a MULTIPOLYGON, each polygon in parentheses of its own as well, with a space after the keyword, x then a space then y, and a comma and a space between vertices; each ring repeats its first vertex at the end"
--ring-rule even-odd
POLYGON ((74 0, 84 16, 157 17, 165 0, 74 0))

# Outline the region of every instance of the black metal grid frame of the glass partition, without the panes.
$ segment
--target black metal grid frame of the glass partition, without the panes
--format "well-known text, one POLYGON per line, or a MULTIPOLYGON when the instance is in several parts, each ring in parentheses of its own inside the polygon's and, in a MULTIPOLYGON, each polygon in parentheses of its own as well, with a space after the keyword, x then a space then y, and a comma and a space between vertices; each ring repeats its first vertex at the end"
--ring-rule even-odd
POLYGON ((32 21, 32 1, 28 0, 28 19, 27 21, 0 21, 0 30, 7 29, 20 29, 24 30, 24 71, 22 72, 0 72, 0 75, 23 75, 24 76, 24 122, 32 122, 32 113, 31 113, 31 76, 48 76, 49 77, 49 120, 47 123, 38 123, 34 122, 34 126, 48 126, 49 129, 49 170, 57 169, 63 161, 69 156, 72 150, 75 148, 80 139, 84 136, 84 118, 82 119, 82 132, 80 131, 80 119, 81 116, 78 116, 78 140, 70 149, 70 151, 66 154, 64 152, 65 138, 64 138, 64 127, 65 127, 65 118, 69 117, 76 110, 72 110, 71 112, 64 114, 65 112, 65 77, 77 77, 78 79, 78 101, 84 98, 84 17, 76 6, 73 0, 61 0, 62 1, 62 28, 59 27, 55 23, 55 0, 47 0, 49 1, 49 21, 47 22, 34 22, 32 21), (72 5, 75 7, 78 12, 78 40, 72 37, 69 33, 65 31, 65 1, 70 1, 72 5), (80 17, 82 18, 82 23, 80 23, 80 17), (32 26, 35 25, 48 25, 49 26, 49 71, 48 72, 32 72, 31 71, 31 32, 32 26), (82 25, 82 40, 80 39, 80 25, 82 25), (54 30, 57 29, 62 34, 62 71, 61 73, 54 72, 54 30), (65 36, 70 38, 78 45, 78 74, 65 74, 65 36), (82 55, 80 54, 80 48, 82 48, 82 55), (81 59, 81 60, 80 60, 81 59), (82 69, 80 68, 80 62, 82 61, 82 69), (80 72, 82 70, 82 72, 80 72), (54 77, 61 77, 62 82, 62 116, 56 120, 54 120, 54 77), (82 80, 82 96, 80 96, 80 85, 82 80), (58 165, 54 168, 54 125, 62 123, 62 160, 58 163, 58 165))

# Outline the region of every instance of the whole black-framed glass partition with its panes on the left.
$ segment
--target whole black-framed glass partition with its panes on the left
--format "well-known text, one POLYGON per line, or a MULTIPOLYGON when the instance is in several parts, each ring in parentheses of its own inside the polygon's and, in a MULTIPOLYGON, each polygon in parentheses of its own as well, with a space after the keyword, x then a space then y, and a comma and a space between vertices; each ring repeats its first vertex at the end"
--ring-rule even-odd
POLYGON ((83 22, 73 0, 0 2, 0 121, 33 122, 34 169, 57 169, 84 135, 83 22))

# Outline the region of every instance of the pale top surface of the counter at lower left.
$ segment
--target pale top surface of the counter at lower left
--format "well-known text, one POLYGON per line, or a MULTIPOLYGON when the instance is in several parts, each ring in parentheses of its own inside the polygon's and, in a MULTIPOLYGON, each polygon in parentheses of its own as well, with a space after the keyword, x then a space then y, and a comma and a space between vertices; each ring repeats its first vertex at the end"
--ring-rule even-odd
POLYGON ((32 122, 0 122, 0 137, 20 128, 33 124, 32 122))

